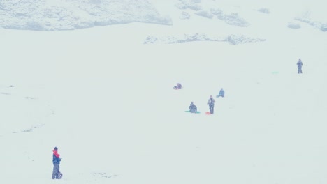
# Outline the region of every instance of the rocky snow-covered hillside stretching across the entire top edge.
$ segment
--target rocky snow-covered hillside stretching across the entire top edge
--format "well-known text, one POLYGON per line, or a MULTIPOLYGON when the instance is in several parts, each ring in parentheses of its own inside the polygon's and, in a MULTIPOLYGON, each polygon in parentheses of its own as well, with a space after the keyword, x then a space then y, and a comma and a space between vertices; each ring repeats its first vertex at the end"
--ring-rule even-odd
POLYGON ((163 34, 150 31, 143 40, 146 44, 218 41, 235 45, 265 41, 269 39, 270 30, 282 27, 300 29, 308 24, 326 31, 324 9, 319 7, 319 0, 316 1, 317 6, 306 1, 290 1, 292 8, 284 9, 276 8, 278 2, 214 0, 1 1, 0 27, 58 31, 144 22, 173 26, 162 28, 166 30, 163 34), (201 24, 193 24, 194 20, 201 24), (272 26, 272 21, 281 25, 272 26))

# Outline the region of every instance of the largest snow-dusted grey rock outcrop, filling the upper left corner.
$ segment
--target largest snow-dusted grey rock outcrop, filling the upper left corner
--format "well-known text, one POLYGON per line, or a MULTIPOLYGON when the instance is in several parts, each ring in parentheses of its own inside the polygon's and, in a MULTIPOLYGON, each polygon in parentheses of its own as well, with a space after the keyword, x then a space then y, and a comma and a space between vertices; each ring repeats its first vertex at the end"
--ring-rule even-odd
POLYGON ((81 29, 131 22, 172 24, 169 17, 162 17, 146 0, 0 1, 0 17, 0 27, 37 31, 81 29))

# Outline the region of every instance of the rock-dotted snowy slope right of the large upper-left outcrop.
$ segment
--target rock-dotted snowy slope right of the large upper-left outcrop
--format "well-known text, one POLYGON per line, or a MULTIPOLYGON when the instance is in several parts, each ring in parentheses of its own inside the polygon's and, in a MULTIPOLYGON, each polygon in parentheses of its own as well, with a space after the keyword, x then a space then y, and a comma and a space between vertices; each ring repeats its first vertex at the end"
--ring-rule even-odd
POLYGON ((173 19, 166 33, 150 33, 144 43, 184 43, 190 41, 226 41, 231 44, 276 39, 289 29, 307 27, 324 31, 326 15, 322 1, 213 1, 176 0, 163 6, 150 1, 173 19), (163 7, 163 8, 159 8, 163 7), (196 24, 194 23, 196 22, 196 24), (170 31, 170 29, 174 29, 170 31))

